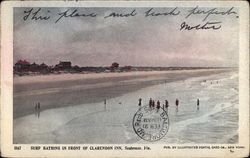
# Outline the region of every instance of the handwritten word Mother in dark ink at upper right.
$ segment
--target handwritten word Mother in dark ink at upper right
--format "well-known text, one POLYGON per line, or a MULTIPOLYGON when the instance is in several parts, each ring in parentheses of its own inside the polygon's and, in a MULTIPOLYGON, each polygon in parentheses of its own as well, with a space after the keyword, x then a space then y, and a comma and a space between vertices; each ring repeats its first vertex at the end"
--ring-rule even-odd
POLYGON ((206 22, 205 24, 198 24, 198 25, 194 25, 194 26, 190 26, 189 24, 187 24, 185 21, 183 23, 181 23, 181 28, 180 30, 208 30, 208 29, 212 29, 212 30, 218 30, 221 28, 221 22, 206 22))

